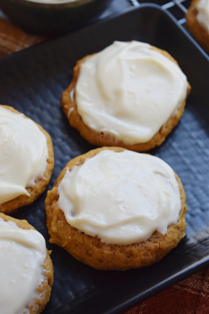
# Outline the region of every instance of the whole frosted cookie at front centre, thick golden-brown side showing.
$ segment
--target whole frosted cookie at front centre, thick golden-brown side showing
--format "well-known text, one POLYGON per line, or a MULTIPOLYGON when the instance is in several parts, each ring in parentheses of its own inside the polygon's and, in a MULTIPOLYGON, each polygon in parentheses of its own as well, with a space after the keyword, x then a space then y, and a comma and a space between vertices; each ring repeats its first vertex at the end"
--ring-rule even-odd
POLYGON ((185 199, 163 160, 94 149, 71 160, 47 192, 50 243, 97 269, 148 266, 185 236, 185 199))

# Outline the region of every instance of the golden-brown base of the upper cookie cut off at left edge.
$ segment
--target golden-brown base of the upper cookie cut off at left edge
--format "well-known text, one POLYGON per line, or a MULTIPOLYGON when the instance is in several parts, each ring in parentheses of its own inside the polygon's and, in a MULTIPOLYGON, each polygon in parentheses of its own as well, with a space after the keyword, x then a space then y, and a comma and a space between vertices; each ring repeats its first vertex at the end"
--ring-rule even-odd
MULTIPOLYGON (((5 108, 5 109, 8 109, 12 112, 21 113, 21 112, 15 110, 13 107, 3 106, 3 105, 0 105, 0 106, 5 108)), ((25 118, 29 119, 27 116, 25 116, 25 115, 23 115, 23 116, 25 118)), ((22 207, 25 205, 30 205, 31 203, 33 203, 34 200, 36 198, 38 198, 39 195, 45 191, 46 186, 48 185, 48 183, 50 181, 52 171, 54 169, 54 151, 53 151, 53 144, 52 144, 50 135, 38 123, 36 123, 35 121, 33 121, 33 122, 37 125, 37 127, 39 127, 41 132, 43 132, 47 138, 47 146, 48 146, 48 153, 49 153, 49 158, 47 159, 47 168, 46 168, 46 171, 44 172, 44 178, 41 178, 41 179, 35 181, 34 187, 27 187, 26 188, 26 190, 30 194, 30 196, 20 195, 16 198, 13 198, 12 200, 5 202, 5 203, 0 205, 0 212, 6 213, 6 214, 11 213, 13 210, 15 210, 19 207, 22 207)))

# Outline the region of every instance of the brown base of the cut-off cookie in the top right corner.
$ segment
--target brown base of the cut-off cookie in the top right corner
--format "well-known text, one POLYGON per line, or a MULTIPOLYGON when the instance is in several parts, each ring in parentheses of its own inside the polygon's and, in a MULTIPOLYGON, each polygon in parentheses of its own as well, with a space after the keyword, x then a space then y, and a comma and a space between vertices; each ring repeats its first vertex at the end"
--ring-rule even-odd
POLYGON ((196 4, 199 1, 200 0, 192 0, 190 7, 188 8, 188 12, 185 14, 185 18, 187 20, 186 26, 200 46, 205 49, 207 53, 209 53, 209 33, 197 20, 198 11, 196 9, 196 4))

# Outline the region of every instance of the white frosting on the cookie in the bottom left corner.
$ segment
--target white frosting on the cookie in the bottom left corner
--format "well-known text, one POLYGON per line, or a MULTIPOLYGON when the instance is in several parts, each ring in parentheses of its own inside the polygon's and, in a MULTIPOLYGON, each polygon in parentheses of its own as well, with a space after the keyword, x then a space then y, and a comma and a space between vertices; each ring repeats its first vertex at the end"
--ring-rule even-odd
POLYGON ((0 313, 27 313, 25 308, 42 282, 44 237, 0 218, 0 313))

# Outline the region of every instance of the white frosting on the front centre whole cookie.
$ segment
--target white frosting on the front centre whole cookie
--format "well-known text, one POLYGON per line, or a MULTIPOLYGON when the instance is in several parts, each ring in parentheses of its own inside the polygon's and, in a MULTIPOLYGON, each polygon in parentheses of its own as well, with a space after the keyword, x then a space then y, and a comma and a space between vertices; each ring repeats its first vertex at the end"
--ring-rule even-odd
POLYGON ((66 169, 58 206, 67 222, 106 244, 147 240, 177 223, 181 198, 174 171, 163 160, 124 150, 102 150, 66 169))

